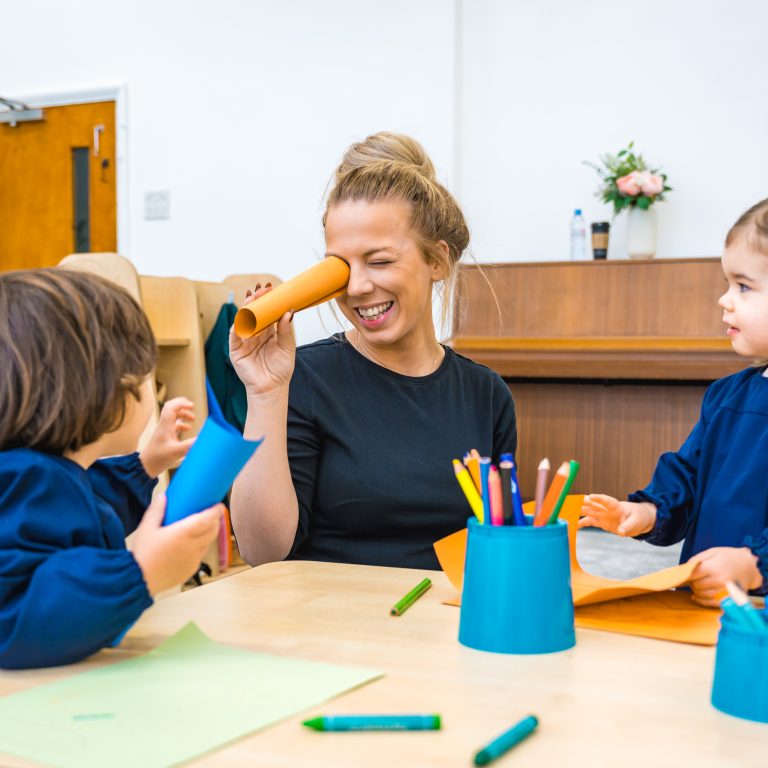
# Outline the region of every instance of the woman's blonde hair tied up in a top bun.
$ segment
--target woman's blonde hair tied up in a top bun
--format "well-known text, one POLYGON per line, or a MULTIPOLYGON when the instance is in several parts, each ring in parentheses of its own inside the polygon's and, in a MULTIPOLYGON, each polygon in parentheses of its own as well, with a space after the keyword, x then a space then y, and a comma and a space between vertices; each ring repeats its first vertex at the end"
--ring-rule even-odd
POLYGON ((453 195, 437 181, 432 161, 421 144, 410 136, 382 131, 349 147, 336 169, 323 226, 330 209, 348 200, 408 203, 410 226, 420 238, 424 258, 428 263, 437 263, 443 274, 438 293, 444 325, 458 262, 469 245, 469 228, 453 195), (447 253, 438 247, 440 241, 447 244, 447 253))

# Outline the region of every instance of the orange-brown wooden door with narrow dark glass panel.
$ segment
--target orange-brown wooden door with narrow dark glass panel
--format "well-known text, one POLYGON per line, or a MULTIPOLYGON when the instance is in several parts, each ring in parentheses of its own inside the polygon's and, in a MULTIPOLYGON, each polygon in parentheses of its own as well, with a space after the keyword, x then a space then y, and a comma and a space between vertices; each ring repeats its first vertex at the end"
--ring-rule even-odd
POLYGON ((115 102, 0 125, 0 271, 117 250, 115 102))

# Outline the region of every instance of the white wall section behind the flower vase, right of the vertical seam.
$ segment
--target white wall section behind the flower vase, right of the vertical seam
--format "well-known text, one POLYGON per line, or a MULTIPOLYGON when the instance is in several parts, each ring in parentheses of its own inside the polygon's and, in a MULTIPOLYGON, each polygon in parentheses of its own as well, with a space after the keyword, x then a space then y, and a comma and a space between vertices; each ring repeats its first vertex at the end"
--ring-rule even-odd
MULTIPOLYGON (((764 0, 465 0, 461 197, 479 261, 568 258, 582 165, 634 140, 674 191, 658 256, 716 256, 768 196, 764 0)), ((626 258, 626 214, 609 257, 626 258)))

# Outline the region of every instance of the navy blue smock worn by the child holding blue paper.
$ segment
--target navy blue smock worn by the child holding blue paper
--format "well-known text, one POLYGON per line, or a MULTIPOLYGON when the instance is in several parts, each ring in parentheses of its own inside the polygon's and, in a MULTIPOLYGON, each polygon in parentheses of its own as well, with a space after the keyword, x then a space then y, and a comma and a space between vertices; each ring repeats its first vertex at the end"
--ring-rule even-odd
POLYGON ((79 464, 0 451, 0 667, 70 664, 152 604, 125 537, 156 481, 138 454, 79 464))

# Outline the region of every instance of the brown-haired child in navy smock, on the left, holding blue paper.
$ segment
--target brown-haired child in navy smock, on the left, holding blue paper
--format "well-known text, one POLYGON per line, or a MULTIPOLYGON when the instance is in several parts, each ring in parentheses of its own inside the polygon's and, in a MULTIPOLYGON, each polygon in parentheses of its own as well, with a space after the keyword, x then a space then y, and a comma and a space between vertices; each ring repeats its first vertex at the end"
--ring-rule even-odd
POLYGON ((135 452, 156 356, 146 315, 109 281, 0 274, 0 667, 116 644, 216 536, 221 505, 162 527, 165 498, 151 502, 193 442, 180 438, 192 403, 177 398, 135 452))

